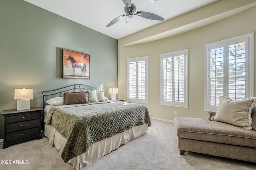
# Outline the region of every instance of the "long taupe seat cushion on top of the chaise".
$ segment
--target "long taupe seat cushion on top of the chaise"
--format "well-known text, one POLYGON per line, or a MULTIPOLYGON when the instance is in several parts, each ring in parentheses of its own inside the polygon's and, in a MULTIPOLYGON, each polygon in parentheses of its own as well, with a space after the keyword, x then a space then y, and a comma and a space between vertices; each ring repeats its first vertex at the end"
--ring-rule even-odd
POLYGON ((254 130, 192 117, 175 117, 174 123, 179 138, 256 148, 254 130))

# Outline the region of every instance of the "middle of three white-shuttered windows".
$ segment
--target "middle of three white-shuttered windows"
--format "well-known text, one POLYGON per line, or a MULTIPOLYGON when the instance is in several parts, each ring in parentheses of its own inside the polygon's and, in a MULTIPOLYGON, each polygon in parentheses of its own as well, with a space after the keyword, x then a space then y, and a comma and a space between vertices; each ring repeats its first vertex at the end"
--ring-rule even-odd
POLYGON ((160 55, 161 105, 188 108, 188 49, 160 55))

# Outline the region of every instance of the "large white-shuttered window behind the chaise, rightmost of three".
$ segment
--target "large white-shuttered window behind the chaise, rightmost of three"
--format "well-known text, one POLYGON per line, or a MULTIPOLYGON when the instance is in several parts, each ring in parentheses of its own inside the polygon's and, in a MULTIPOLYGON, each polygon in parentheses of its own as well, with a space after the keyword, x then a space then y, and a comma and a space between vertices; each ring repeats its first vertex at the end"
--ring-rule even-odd
POLYGON ((205 45, 205 109, 216 111, 219 97, 253 96, 253 33, 205 45))

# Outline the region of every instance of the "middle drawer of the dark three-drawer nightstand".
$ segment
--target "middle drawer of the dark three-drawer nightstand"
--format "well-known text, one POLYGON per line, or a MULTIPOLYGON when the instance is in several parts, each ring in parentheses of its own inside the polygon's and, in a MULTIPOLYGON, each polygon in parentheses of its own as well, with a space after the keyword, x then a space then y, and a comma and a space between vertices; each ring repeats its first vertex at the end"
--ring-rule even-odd
POLYGON ((30 129, 32 127, 39 127, 40 124, 41 124, 40 119, 6 124, 6 133, 10 133, 10 132, 14 132, 14 131, 21 131, 24 129, 30 129))

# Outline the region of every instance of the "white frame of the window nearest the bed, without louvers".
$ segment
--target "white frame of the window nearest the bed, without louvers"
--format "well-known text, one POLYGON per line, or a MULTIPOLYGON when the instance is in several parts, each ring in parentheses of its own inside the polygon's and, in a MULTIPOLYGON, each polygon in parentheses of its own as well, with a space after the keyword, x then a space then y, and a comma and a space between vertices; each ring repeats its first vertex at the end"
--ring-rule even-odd
MULTIPOLYGON (((138 74, 138 71, 136 72, 138 74)), ((138 76, 136 76, 138 78, 138 76)), ((127 102, 133 102, 133 103, 144 103, 148 104, 148 56, 145 57, 134 57, 134 58, 128 58, 127 59, 127 102), (139 99, 138 98, 138 79, 136 79, 136 98, 130 98, 130 82, 129 82, 129 63, 130 62, 136 62, 138 63, 139 61, 145 61, 145 69, 146 69, 146 94, 145 94, 145 99, 139 99)))

